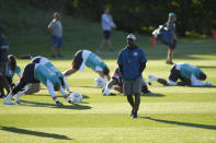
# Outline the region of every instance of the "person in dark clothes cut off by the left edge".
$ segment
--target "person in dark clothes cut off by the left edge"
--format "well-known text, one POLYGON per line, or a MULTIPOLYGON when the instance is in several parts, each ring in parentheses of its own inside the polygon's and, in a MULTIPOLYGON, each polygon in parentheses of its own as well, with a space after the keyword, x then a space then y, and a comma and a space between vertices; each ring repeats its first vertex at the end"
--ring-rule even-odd
POLYGON ((5 79, 8 70, 8 50, 9 41, 5 35, 3 35, 2 27, 0 26, 0 97, 4 97, 4 88, 8 94, 10 93, 10 86, 5 79))

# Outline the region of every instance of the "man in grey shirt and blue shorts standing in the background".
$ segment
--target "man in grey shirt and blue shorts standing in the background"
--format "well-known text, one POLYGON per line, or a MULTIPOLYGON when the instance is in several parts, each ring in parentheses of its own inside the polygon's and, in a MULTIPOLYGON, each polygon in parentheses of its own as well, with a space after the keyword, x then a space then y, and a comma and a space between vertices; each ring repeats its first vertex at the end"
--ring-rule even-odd
POLYGON ((52 58, 61 58, 61 46, 62 46, 62 26, 60 23, 60 14, 54 13, 54 20, 48 24, 48 29, 53 38, 52 58))

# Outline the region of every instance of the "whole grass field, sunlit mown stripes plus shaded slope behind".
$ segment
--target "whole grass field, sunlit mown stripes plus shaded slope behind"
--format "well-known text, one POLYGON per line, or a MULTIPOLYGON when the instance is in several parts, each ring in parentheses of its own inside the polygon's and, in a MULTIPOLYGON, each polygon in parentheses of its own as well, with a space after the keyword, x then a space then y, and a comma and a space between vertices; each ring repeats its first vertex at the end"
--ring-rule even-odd
MULTIPOLYGON (((0 2, 1 20, 8 26, 10 53, 49 56, 50 36, 46 29, 52 12, 38 10, 21 1, 0 2), (31 13, 31 14, 29 14, 31 13), (33 16, 34 15, 34 16, 33 16), (10 19, 8 19, 10 17, 10 19), (15 23, 14 23, 15 21, 15 23)), ((72 53, 78 49, 95 51, 102 38, 99 23, 62 15, 62 60, 52 62, 60 71, 69 69, 72 53)), ((100 55, 111 74, 116 68, 117 51, 126 45, 128 33, 114 31, 112 41, 116 53, 100 55)), ((145 50, 148 64, 144 72, 167 78, 171 65, 164 64, 167 48, 150 47, 150 37, 138 35, 137 44, 145 50)), ((216 43, 209 39, 180 37, 174 60, 189 62, 207 74, 216 85, 216 43)), ((23 69, 30 60, 18 60, 23 69)), ((138 119, 129 117, 130 106, 122 94, 102 96, 94 86, 96 73, 86 69, 67 79, 71 91, 84 95, 81 104, 55 105, 45 86, 39 93, 21 97, 21 105, 3 105, 0 99, 0 143, 215 143, 216 86, 167 87, 158 83, 149 86, 152 95, 141 96, 138 119)), ((15 78, 18 81, 18 78, 15 78)))

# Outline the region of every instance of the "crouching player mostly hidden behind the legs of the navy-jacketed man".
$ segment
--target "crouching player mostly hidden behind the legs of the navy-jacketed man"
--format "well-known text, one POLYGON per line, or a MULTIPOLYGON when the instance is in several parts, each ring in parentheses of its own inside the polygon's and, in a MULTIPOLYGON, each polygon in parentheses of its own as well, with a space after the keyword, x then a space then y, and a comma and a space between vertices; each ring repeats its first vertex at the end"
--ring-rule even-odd
MULTIPOLYGON (((143 86, 141 86, 141 92, 144 94, 149 94, 150 91, 148 91, 148 86, 146 85, 145 79, 143 78, 141 80, 143 86)), ((102 90, 102 93, 104 96, 115 96, 114 93, 111 93, 111 88, 114 88, 115 91, 123 93, 123 82, 122 82, 122 75, 120 73, 120 69, 116 68, 112 79, 110 82, 106 83, 105 87, 102 90), (116 85, 116 86, 115 86, 116 85)))

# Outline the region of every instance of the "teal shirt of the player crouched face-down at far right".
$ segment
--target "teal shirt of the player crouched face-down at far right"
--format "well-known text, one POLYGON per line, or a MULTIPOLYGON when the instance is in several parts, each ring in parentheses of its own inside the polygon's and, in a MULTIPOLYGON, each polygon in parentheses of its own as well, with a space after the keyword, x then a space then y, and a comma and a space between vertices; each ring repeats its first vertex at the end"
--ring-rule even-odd
POLYGON ((196 79, 200 79, 201 69, 189 63, 182 63, 180 73, 183 78, 191 79, 191 75, 194 74, 196 79))

